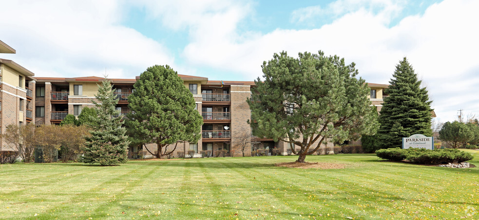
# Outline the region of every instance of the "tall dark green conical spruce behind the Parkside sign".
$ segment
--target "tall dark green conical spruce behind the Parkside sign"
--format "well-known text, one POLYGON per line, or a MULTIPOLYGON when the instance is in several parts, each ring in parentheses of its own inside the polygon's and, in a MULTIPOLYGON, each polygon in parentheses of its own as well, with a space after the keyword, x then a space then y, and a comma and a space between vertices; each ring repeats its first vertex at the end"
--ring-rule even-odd
POLYGON ((432 101, 406 57, 396 66, 389 85, 379 116, 378 147, 401 147, 402 137, 412 134, 432 136, 432 101))

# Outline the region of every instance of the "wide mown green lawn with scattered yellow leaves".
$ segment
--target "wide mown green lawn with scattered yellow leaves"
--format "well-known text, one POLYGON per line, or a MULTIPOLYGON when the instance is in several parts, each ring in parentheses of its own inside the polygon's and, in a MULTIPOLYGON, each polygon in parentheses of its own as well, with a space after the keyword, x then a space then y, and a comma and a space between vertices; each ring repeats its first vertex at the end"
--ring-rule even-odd
MULTIPOLYGON (((479 151, 470 161, 479 166, 479 151)), ((479 168, 307 156, 0 165, 0 219, 479 219, 479 168)))

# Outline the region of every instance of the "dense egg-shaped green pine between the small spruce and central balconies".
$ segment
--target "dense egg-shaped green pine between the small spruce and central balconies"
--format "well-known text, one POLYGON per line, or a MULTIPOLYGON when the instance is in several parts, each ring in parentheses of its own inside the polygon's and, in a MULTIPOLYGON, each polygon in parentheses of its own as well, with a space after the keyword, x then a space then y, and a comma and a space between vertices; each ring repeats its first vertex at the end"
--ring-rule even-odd
POLYGON ((178 73, 168 65, 149 67, 133 87, 125 125, 135 142, 156 144, 158 158, 171 154, 178 142, 198 142, 203 118, 178 73), (169 145, 173 149, 167 151, 169 145))

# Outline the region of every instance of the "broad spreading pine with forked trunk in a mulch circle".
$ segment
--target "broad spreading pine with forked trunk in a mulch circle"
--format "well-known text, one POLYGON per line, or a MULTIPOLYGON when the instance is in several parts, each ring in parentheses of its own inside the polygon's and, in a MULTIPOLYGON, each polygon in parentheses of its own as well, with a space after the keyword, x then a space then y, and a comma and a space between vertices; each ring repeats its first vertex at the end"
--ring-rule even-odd
POLYGON ((321 51, 299 58, 282 52, 262 68, 265 81, 255 81, 248 100, 253 133, 299 147, 292 147, 297 162, 327 141, 354 140, 377 129, 369 88, 356 78, 354 63, 321 51))

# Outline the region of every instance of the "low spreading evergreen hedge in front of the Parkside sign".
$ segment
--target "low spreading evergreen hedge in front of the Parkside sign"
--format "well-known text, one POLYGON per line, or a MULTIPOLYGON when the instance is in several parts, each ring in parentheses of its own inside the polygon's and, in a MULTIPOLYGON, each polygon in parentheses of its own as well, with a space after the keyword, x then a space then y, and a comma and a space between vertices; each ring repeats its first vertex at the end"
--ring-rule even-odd
POLYGON ((387 148, 376 150, 376 155, 390 161, 409 161, 415 164, 462 163, 474 157, 459 149, 387 148))

